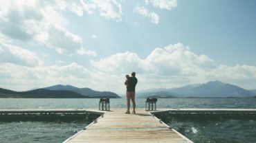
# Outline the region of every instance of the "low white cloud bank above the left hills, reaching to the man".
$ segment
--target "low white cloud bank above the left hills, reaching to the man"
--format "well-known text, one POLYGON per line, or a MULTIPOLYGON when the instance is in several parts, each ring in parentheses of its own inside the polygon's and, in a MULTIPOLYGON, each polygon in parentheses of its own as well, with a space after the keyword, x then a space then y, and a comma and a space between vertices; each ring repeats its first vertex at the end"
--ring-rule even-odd
POLYGON ((76 87, 89 87, 100 91, 115 91, 113 87, 122 86, 123 81, 116 74, 108 75, 104 72, 89 70, 77 63, 68 65, 24 67, 12 63, 0 63, 0 87, 25 91, 33 87, 48 87, 51 85, 63 84, 76 87), (116 82, 109 82, 115 80, 116 82), (100 84, 99 84, 100 83, 100 84), (117 85, 118 84, 118 85, 117 85), (120 85, 120 86, 119 86, 120 85))

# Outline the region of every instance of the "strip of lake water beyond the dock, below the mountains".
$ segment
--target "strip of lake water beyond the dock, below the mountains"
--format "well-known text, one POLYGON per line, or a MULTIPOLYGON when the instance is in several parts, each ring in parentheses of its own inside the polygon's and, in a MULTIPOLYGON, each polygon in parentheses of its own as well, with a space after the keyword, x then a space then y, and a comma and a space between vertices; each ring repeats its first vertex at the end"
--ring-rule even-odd
MULTIPOLYGON (((1 98, 0 109, 97 109, 99 99, 10 99, 1 98)), ((112 108, 125 108, 124 98, 111 99, 112 108)), ((139 108, 145 99, 136 99, 139 108)), ((158 99, 158 108, 256 108, 256 98, 170 98, 158 99)))

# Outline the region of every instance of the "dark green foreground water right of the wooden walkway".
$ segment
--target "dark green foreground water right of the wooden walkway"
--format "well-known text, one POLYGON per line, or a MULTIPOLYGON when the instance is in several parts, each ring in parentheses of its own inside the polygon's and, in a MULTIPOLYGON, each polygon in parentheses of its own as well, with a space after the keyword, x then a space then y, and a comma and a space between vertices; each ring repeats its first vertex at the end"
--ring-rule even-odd
POLYGON ((256 115, 157 115, 196 143, 255 143, 256 115))

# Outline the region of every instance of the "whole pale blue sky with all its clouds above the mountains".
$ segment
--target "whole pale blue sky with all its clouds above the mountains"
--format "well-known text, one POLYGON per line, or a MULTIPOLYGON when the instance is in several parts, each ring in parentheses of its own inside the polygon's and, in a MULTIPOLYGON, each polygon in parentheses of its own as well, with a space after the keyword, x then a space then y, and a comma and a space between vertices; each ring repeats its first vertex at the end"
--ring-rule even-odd
POLYGON ((0 87, 256 89, 254 0, 0 0, 0 87))

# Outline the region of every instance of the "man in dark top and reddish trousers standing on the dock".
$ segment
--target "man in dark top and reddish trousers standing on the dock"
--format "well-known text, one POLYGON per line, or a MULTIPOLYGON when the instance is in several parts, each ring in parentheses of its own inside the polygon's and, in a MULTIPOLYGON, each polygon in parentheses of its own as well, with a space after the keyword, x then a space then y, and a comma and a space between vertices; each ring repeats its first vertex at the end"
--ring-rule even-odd
POLYGON ((136 113, 135 107, 135 87, 138 83, 137 78, 135 77, 136 73, 132 72, 131 77, 128 78, 128 84, 127 84, 127 92, 126 92, 126 97, 127 97, 127 111, 125 113, 130 113, 130 100, 132 102, 133 106, 133 111, 132 113, 136 113))

